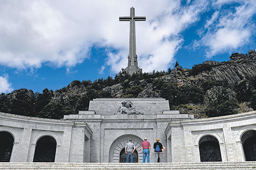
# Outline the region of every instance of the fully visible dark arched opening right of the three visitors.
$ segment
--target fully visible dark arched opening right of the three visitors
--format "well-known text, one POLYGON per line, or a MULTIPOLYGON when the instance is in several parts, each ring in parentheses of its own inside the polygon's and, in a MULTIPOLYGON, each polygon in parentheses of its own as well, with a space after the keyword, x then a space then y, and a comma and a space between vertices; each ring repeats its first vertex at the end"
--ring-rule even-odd
POLYGON ((218 140, 214 136, 204 136, 199 141, 201 162, 222 161, 218 140))

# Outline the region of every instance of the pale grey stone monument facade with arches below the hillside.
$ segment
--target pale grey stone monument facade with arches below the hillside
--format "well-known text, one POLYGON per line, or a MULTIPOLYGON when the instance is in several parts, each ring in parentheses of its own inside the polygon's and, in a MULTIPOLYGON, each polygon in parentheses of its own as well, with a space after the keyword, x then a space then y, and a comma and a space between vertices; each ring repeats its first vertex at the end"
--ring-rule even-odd
MULTIPOLYGON (((169 110, 166 99, 125 98, 133 104, 128 108, 143 115, 116 114, 123 101, 96 98, 88 111, 60 120, 0 112, 0 161, 126 162, 124 147, 132 139, 135 162, 142 162, 144 137, 151 146, 160 138, 166 147, 163 162, 255 161, 256 111, 194 119, 169 110), (50 156, 37 152, 39 147, 50 156)), ((150 155, 154 162, 153 149, 150 155)))

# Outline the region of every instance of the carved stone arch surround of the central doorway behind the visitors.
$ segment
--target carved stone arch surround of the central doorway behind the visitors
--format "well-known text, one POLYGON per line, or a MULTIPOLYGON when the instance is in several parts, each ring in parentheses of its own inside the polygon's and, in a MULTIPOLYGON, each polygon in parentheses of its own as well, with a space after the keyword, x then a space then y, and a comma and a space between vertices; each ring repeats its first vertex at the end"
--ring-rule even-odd
POLYGON ((119 163, 121 150, 125 147, 125 144, 128 143, 130 139, 135 144, 138 152, 138 162, 142 162, 141 143, 143 140, 142 138, 132 134, 122 135, 114 140, 109 149, 109 162, 119 163))

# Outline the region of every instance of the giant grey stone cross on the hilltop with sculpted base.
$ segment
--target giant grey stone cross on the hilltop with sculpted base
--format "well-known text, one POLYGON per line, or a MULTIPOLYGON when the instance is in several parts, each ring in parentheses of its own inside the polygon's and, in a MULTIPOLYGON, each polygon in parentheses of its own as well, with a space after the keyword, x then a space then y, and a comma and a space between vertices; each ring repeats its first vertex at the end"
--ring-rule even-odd
POLYGON ((142 69, 138 67, 137 55, 136 55, 136 38, 135 38, 135 21, 146 21, 144 16, 135 16, 135 9, 130 9, 130 16, 119 17, 119 21, 130 21, 130 45, 128 55, 128 66, 124 71, 130 75, 133 73, 142 72, 142 69))

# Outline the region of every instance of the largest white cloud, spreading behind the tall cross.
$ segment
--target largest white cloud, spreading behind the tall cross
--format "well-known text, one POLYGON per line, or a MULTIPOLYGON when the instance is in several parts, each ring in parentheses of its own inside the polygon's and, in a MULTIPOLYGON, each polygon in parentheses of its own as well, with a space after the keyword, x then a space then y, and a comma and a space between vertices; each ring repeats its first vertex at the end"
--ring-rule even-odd
POLYGON ((137 55, 144 71, 167 69, 181 46, 180 33, 198 21, 206 8, 203 0, 187 1, 186 7, 174 0, 3 2, 0 64, 38 68, 50 62, 69 68, 89 58, 90 47, 97 43, 118 50, 106 61, 112 72, 127 65, 129 22, 119 22, 118 18, 129 16, 130 7, 135 7, 137 16, 147 17, 147 22, 136 22, 137 55), (148 56, 150 61, 142 63, 148 56))

